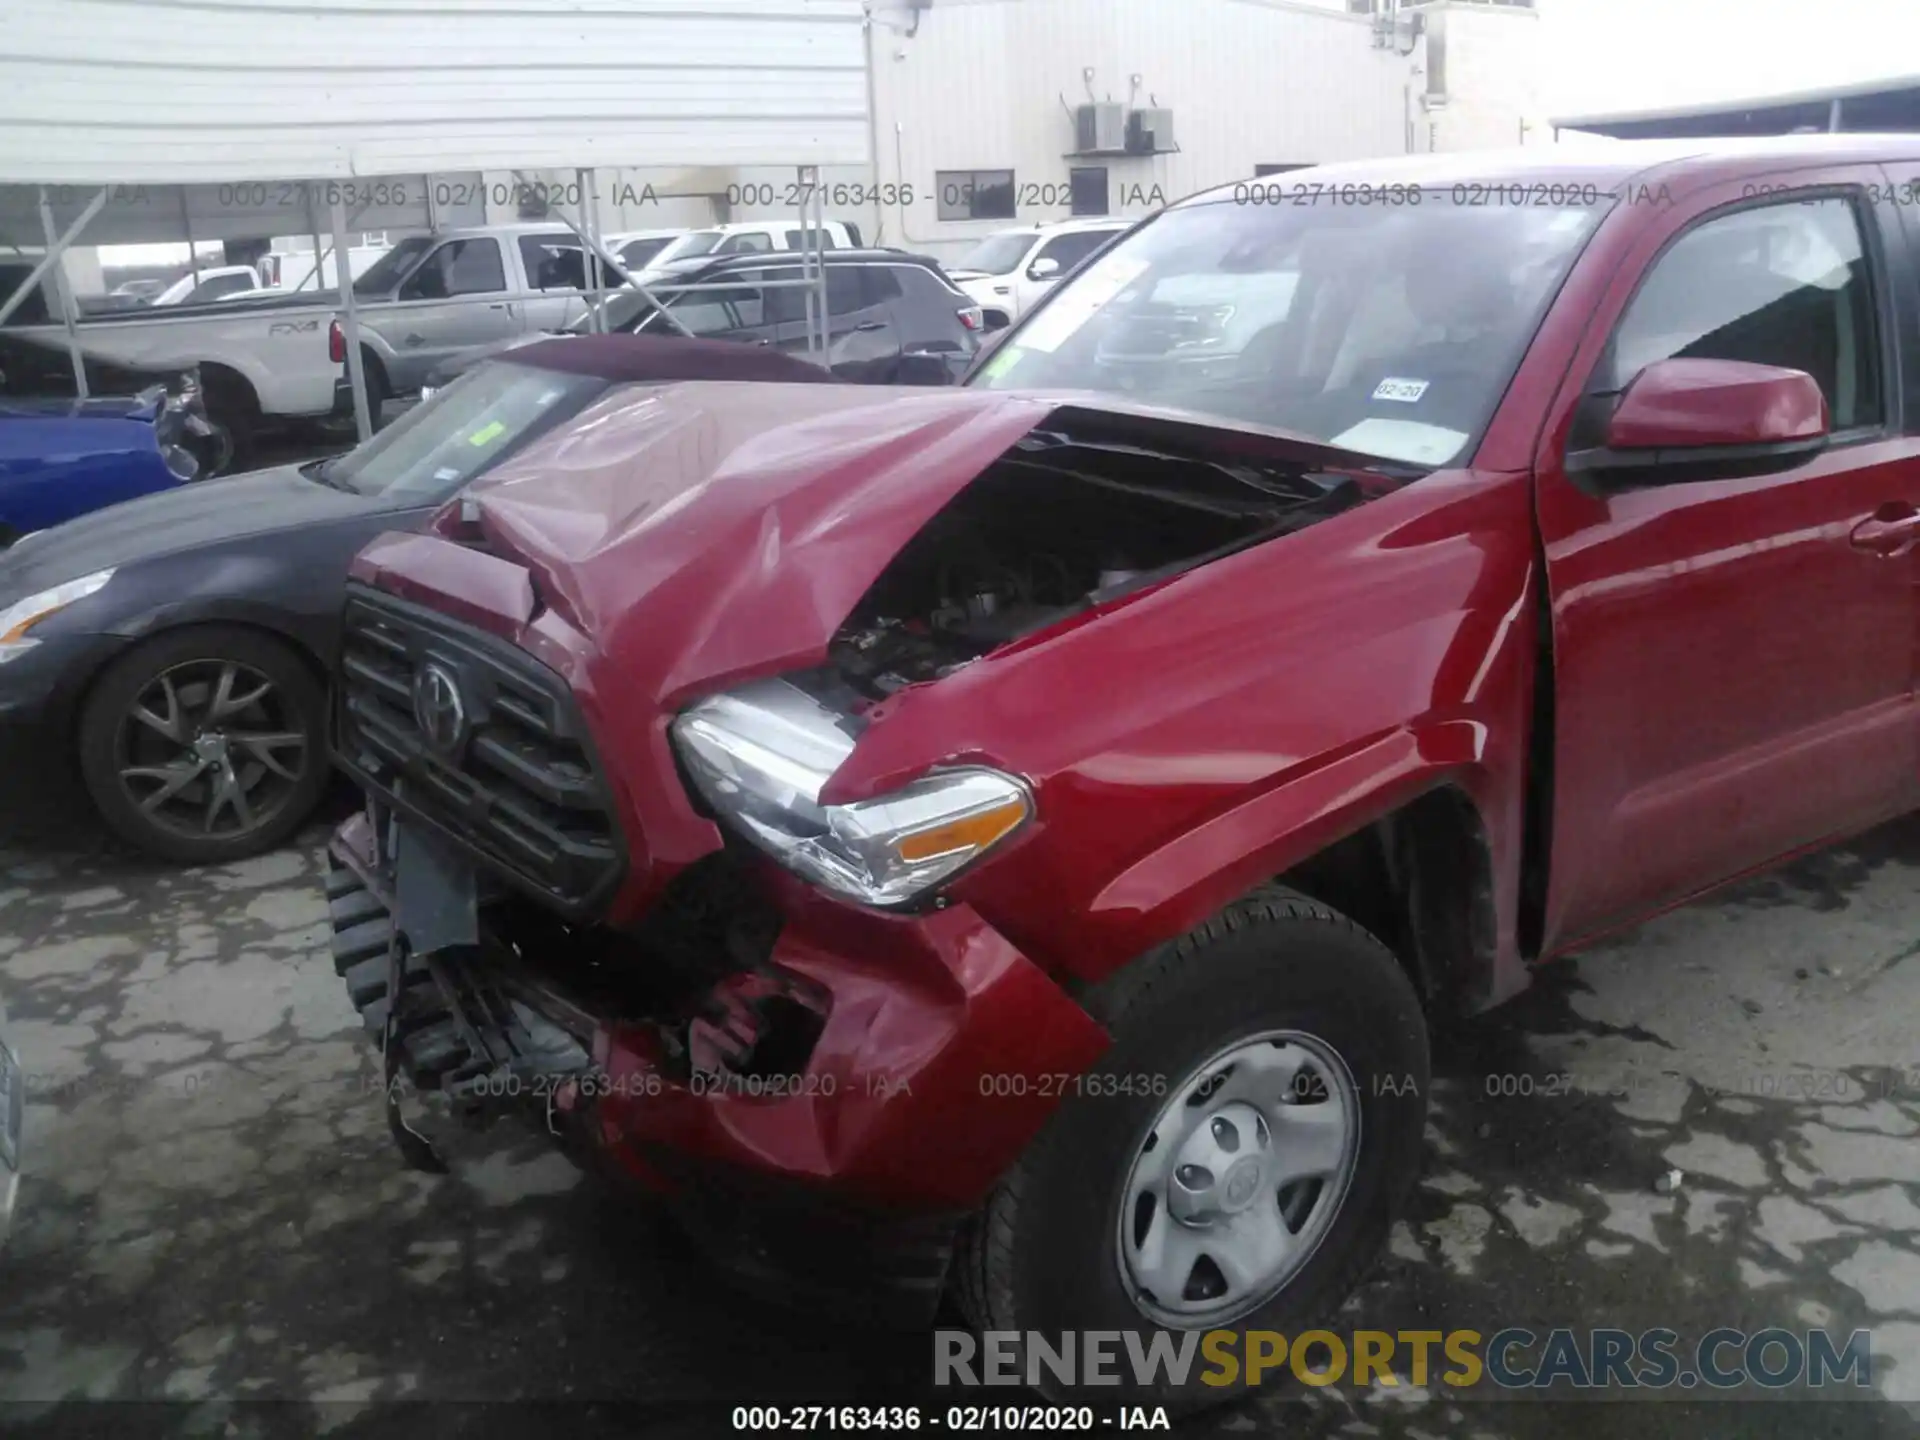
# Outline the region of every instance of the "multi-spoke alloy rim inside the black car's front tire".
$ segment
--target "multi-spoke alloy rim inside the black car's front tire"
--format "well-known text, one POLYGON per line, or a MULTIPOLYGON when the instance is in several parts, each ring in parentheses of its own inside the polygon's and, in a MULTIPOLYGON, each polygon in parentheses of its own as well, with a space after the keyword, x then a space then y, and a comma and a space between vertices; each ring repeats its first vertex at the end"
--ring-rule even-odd
POLYGON ((273 822, 315 764, 278 685, 238 660, 188 660, 154 676, 121 716, 119 783, 154 826, 232 839, 273 822))

